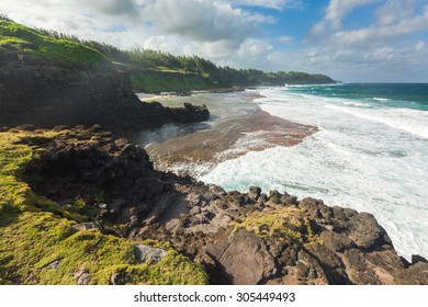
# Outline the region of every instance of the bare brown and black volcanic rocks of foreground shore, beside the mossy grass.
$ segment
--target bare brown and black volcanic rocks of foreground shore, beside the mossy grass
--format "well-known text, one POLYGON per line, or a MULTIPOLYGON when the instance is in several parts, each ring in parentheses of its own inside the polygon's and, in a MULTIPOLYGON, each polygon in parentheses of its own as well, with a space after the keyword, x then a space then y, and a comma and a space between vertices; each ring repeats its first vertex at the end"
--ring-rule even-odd
MULTIPOLYGON (((16 146, 37 152, 20 174, 31 190, 58 204, 61 218, 81 200, 85 223, 70 227, 80 236, 97 232, 135 242, 134 254, 143 262, 156 263, 167 253, 147 247, 149 240, 200 263, 211 284, 428 284, 427 261, 401 258, 370 214, 259 187, 226 193, 160 172, 143 148, 98 125, 53 132, 26 126, 2 134, 13 133, 20 135, 16 146)), ((58 259, 55 274, 64 274, 67 257, 58 259)), ((0 265, 7 264, 2 259, 0 265)), ((69 265, 80 270, 74 280, 79 284, 97 283, 103 269, 83 272, 85 263, 69 265)), ((52 269, 15 281, 37 283, 44 270, 52 269)), ((117 266, 104 282, 135 283, 133 272, 117 266)))

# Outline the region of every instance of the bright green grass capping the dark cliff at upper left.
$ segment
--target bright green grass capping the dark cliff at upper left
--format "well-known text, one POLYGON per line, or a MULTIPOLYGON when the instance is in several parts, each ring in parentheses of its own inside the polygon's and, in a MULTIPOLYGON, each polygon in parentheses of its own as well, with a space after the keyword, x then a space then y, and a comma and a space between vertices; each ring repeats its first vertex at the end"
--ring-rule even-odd
POLYGON ((0 20, 0 48, 12 48, 24 55, 57 65, 95 67, 105 61, 98 50, 8 20, 0 20))

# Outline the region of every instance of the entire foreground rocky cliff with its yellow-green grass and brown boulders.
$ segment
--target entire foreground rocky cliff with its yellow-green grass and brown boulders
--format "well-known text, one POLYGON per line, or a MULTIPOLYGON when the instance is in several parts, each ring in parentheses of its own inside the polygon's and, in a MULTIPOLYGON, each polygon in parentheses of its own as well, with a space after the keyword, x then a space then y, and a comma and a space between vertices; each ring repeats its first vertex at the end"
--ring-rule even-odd
POLYGON ((428 283, 370 214, 159 172, 100 126, 22 128, 0 133, 0 283, 428 283))

